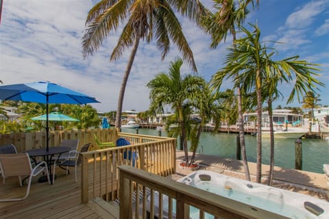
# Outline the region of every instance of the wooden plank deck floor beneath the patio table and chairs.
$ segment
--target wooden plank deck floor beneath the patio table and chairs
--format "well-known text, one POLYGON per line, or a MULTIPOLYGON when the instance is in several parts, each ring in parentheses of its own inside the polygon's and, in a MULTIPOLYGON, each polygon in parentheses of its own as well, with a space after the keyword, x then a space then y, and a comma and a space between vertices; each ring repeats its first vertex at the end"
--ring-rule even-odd
MULTIPOLYGON (((0 218, 103 218, 92 206, 81 204, 80 175, 77 183, 74 171, 65 175, 64 170, 56 169, 56 176, 53 185, 38 183, 34 177, 25 200, 0 203, 0 218)), ((26 188, 26 183, 19 186, 18 177, 5 179, 5 185, 1 178, 0 198, 21 197, 26 188)))

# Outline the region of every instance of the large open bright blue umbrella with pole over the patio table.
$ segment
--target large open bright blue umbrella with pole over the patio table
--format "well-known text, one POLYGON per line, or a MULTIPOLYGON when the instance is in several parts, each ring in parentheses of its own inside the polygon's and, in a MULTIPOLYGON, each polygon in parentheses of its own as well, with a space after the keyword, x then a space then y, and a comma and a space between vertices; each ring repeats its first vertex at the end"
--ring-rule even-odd
POLYGON ((49 103, 99 103, 94 97, 64 88, 51 82, 16 83, 0 86, 0 100, 25 101, 46 104, 46 144, 49 149, 49 103))

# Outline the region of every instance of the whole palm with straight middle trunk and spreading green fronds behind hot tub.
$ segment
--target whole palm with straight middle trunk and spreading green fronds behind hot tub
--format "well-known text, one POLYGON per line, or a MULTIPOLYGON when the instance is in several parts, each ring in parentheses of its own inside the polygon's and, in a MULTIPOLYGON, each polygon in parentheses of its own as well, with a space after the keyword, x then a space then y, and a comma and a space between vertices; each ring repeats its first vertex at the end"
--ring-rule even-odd
POLYGON ((226 67, 220 73, 217 73, 218 78, 234 77, 236 71, 241 72, 239 79, 235 81, 236 84, 242 84, 243 90, 256 92, 257 99, 257 120, 258 120, 258 139, 257 139, 257 172, 256 181, 261 179, 261 155, 262 155, 262 141, 261 141, 261 120, 262 120, 262 104, 264 101, 262 95, 262 84, 274 84, 269 97, 273 97, 276 91, 276 82, 278 83, 293 83, 293 89, 289 95, 287 103, 291 103, 297 95, 308 92, 308 90, 315 91, 317 86, 324 86, 314 76, 317 76, 315 70, 316 64, 312 64, 303 60, 298 60, 298 56, 288 57, 284 60, 275 61, 272 59, 274 52, 269 47, 263 46, 260 42, 260 29, 256 25, 252 25, 254 31, 248 31, 241 27, 246 34, 244 38, 236 40, 234 47, 230 47, 230 53, 226 58, 226 67))

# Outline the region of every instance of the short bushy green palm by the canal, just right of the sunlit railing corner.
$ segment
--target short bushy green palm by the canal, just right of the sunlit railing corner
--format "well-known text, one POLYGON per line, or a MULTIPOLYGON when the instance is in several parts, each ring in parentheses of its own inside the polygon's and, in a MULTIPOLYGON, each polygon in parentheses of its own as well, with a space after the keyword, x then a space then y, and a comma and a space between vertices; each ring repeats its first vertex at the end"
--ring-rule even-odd
POLYGON ((177 114, 178 129, 176 135, 180 134, 184 149, 185 162, 188 165, 188 144, 186 128, 189 114, 191 114, 191 102, 195 99, 202 99, 200 88, 204 86, 204 79, 193 75, 182 77, 180 68, 183 64, 181 59, 171 62, 169 73, 159 73, 154 79, 147 83, 150 89, 149 99, 151 100, 150 111, 163 113, 164 105, 170 105, 177 114))

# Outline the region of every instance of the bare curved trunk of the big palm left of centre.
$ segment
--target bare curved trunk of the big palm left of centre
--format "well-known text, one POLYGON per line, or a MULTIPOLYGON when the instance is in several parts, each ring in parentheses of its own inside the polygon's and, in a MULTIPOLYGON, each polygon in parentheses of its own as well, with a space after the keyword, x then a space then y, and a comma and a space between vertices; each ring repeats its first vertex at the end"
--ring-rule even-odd
POLYGON ((119 92, 118 106, 117 106, 117 116, 115 118, 115 128, 121 129, 121 115, 122 115, 122 105, 123 98, 125 97, 125 87, 127 86, 128 77, 130 75, 130 70, 132 69, 132 64, 134 63, 134 59, 136 56, 136 52, 138 49, 139 40, 141 39, 141 24, 139 25, 138 31, 136 31, 136 36, 134 40, 134 44, 132 46, 132 53, 130 53, 129 60, 127 62, 127 66, 125 68, 125 74, 123 75, 121 88, 119 92))

